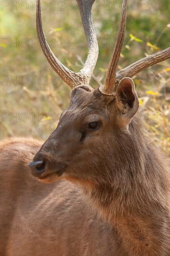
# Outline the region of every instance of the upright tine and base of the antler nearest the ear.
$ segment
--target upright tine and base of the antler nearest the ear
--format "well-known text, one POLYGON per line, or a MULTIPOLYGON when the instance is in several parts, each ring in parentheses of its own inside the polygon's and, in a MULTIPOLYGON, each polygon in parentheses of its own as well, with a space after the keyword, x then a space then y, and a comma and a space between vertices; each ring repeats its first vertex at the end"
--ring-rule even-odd
POLYGON ((106 95, 114 94, 116 70, 117 70, 118 60, 120 57, 120 53, 121 53, 121 49, 124 41, 124 34, 125 34, 125 28, 126 28, 126 9, 127 9, 127 0, 123 0, 121 22, 119 26, 118 36, 116 39, 116 43, 114 45, 111 61, 109 63, 109 67, 107 70, 105 83, 103 86, 100 86, 99 88, 100 92, 106 95))

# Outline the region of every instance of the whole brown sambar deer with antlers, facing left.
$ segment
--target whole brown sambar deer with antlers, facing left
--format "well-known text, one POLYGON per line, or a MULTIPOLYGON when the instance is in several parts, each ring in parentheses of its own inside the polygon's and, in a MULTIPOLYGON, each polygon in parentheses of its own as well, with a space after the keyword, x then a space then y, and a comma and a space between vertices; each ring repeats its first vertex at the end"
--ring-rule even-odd
POLYGON ((2 256, 170 255, 169 169, 150 145, 136 115, 139 101, 131 79, 168 59, 170 48, 117 72, 126 24, 127 1, 123 0, 105 83, 93 90, 89 82, 98 59, 91 14, 94 1, 77 0, 89 46, 78 73, 52 53, 37 1, 41 48, 72 88, 72 95, 57 128, 43 145, 21 138, 2 142, 2 256), (37 154, 32 162, 31 154, 11 160, 11 154, 20 150, 37 154), (29 175, 28 164, 36 179, 29 175), (38 180, 58 182, 45 187, 38 180), (18 188, 34 188, 34 194, 24 197, 17 194, 18 188), (48 193, 42 197, 37 189, 44 188, 48 193), (54 188, 63 188, 63 197, 53 196, 54 188))

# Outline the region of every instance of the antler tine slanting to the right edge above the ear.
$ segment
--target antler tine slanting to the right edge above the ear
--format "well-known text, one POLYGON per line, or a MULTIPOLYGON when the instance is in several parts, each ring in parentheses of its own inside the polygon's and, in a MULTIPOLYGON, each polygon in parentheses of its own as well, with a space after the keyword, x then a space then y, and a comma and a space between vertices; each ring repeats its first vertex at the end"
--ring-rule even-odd
POLYGON ((128 67, 125 67, 122 70, 118 71, 117 76, 119 79, 126 76, 133 77, 135 74, 138 74, 147 67, 151 67, 152 65, 157 64, 161 61, 165 61, 169 58, 170 47, 132 63, 128 67))

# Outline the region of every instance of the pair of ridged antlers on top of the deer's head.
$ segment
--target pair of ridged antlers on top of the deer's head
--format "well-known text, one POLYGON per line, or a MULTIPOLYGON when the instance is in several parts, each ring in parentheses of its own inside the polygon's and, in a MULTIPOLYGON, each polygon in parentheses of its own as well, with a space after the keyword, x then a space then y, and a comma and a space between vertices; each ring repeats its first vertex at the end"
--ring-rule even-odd
MULTIPOLYGON (((51 48, 49 47, 46 36, 42 26, 42 17, 41 17, 41 6, 40 0, 37 0, 37 12, 36 12, 36 24, 37 24, 37 34, 39 38, 40 46, 50 63, 53 70, 63 79, 71 88, 74 88, 78 85, 84 84, 88 85, 96 62, 98 60, 98 41, 96 33, 94 30, 92 22, 92 5, 95 0, 77 0, 78 7, 80 10, 81 20, 85 30, 85 36, 88 42, 89 52, 87 59, 85 61, 84 67, 78 72, 70 70, 65 67, 57 57, 52 53, 51 48)), ((111 61, 107 70, 105 83, 99 87, 101 93, 106 95, 114 95, 116 91, 116 85, 123 77, 133 77, 135 74, 144 70, 147 67, 150 67, 158 62, 165 61, 170 58, 170 48, 164 49, 163 51, 157 52, 150 56, 147 56, 135 63, 132 63, 128 67, 117 71, 118 60, 120 57, 125 27, 126 27, 126 10, 127 10, 127 0, 123 0, 122 4, 122 14, 121 22, 119 26, 118 36, 116 43, 113 49, 111 56, 111 61)))

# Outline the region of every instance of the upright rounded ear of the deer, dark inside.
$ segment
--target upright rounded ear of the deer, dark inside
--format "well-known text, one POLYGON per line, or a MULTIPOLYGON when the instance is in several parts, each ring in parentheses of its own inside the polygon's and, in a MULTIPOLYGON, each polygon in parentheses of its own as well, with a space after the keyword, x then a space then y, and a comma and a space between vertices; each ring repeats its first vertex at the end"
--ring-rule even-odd
POLYGON ((126 119, 131 119, 139 107, 134 81, 130 77, 124 77, 118 84, 116 94, 118 108, 126 119))

